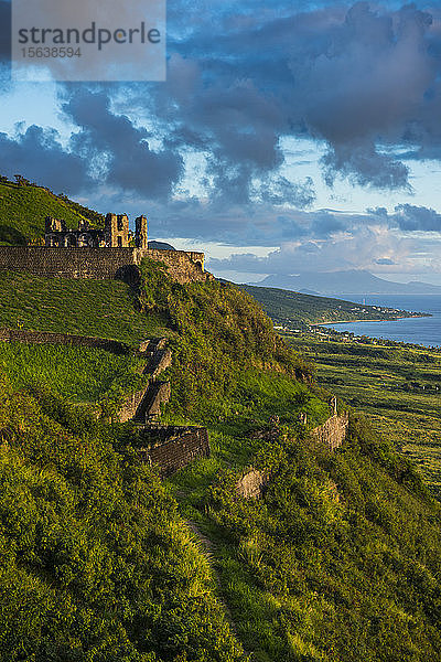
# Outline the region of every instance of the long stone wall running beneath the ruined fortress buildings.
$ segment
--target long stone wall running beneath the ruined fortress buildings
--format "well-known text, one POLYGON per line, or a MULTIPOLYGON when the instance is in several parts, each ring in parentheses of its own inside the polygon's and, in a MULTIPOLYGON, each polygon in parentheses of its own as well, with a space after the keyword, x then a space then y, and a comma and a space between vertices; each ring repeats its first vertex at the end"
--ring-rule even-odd
POLYGON ((49 278, 139 279, 143 257, 161 260, 178 282, 208 280, 204 254, 149 248, 58 248, 46 246, 0 246, 0 271, 25 271, 49 278))

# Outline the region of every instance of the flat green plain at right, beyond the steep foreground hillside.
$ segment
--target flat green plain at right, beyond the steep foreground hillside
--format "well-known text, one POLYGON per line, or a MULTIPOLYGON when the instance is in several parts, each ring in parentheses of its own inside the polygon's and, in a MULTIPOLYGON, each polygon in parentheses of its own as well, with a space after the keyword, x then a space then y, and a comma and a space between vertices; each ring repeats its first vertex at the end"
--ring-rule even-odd
POLYGON ((364 412, 441 491, 441 352, 312 335, 287 340, 314 361, 320 383, 364 412))

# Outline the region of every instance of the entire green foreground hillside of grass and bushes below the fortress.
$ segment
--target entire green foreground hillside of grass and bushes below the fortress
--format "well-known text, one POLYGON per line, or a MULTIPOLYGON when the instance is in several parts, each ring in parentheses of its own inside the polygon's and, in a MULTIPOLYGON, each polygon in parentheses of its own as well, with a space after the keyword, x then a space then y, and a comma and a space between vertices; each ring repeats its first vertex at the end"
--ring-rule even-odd
POLYGON ((251 297, 176 285, 151 261, 137 292, 13 274, 8 287, 3 324, 165 334, 163 421, 206 425, 212 457, 161 483, 131 424, 4 380, 2 660, 245 662, 243 645, 259 662, 440 659, 440 505, 356 415, 336 452, 312 440, 329 392, 251 297), (248 501, 235 485, 250 465, 268 478, 248 501))

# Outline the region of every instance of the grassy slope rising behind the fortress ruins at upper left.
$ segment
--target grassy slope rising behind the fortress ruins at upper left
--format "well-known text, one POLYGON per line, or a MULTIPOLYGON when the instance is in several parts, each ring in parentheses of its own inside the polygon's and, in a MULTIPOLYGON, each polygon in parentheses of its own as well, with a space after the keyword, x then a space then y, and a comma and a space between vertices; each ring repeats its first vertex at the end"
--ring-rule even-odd
POLYGON ((43 186, 0 181, 0 245, 42 239, 46 216, 64 218, 67 227, 77 227, 80 218, 95 226, 104 221, 96 212, 43 186))

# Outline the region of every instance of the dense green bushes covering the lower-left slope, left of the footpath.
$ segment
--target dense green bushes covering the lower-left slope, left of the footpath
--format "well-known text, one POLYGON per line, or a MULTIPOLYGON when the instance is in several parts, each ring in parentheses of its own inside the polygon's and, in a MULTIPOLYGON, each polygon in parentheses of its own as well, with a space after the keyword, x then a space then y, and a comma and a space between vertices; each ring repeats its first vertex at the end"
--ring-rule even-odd
POLYGON ((0 659, 243 659, 166 488, 111 428, 0 385, 0 659))

